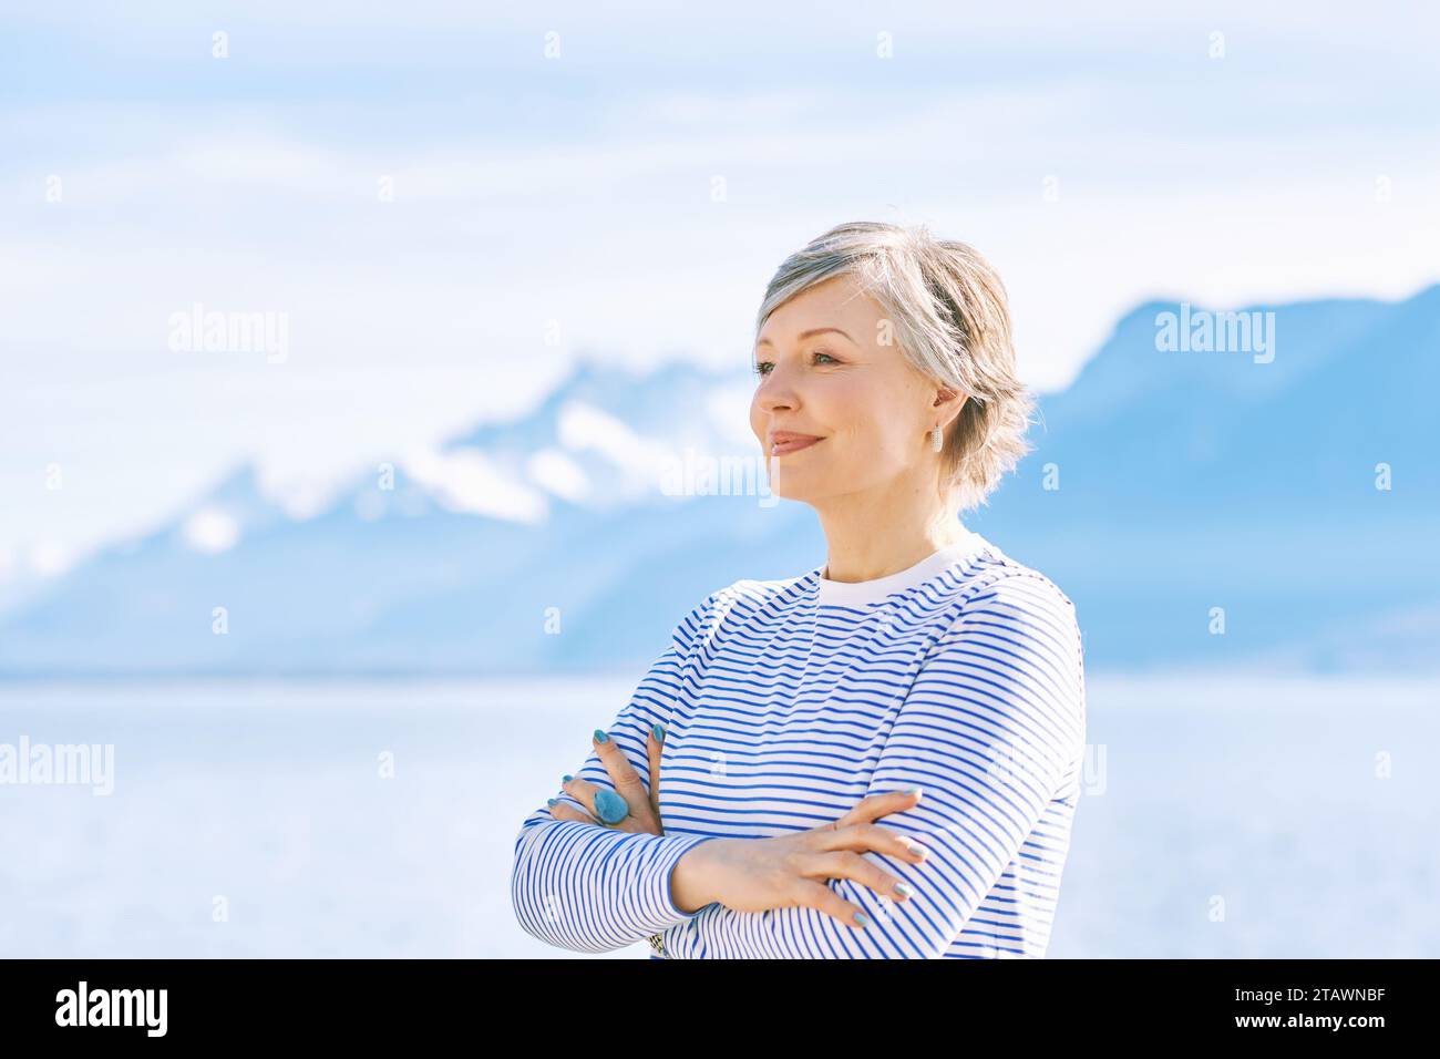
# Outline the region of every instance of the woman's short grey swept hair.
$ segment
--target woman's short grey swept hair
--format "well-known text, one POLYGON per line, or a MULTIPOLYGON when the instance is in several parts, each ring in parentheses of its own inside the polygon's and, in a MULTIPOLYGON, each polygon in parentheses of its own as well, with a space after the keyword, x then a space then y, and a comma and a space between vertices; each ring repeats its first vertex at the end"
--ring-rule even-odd
POLYGON ((756 341, 776 308, 838 275, 852 277, 881 305, 917 370, 969 398, 945 441, 940 484, 962 510, 984 504, 1031 451, 1025 431, 1035 408, 1015 377, 999 274, 973 246, 936 239, 924 225, 838 225, 776 269, 756 316, 756 341))

